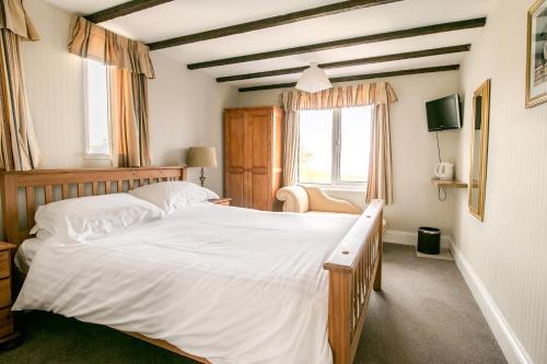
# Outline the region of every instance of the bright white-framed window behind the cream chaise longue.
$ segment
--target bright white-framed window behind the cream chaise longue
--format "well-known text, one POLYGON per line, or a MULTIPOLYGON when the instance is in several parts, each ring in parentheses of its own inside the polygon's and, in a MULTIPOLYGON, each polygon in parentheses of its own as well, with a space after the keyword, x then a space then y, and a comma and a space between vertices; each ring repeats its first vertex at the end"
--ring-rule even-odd
POLYGON ((370 106, 300 111, 299 183, 333 187, 365 184, 371 113, 370 106))

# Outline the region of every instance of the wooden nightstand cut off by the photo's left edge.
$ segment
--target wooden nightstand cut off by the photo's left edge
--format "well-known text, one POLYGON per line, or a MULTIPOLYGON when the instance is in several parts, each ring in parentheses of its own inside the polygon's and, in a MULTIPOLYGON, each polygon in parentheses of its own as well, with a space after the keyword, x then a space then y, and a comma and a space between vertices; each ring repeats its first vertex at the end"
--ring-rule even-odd
POLYGON ((16 246, 0 242, 0 348, 9 349, 16 344, 19 332, 11 317, 11 250, 16 246))

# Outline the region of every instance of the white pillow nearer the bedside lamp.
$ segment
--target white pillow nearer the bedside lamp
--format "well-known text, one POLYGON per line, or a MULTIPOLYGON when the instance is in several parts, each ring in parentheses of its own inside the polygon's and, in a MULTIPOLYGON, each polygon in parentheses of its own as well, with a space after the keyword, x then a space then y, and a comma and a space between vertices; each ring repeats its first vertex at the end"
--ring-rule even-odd
POLYGON ((191 203, 219 198, 210 189, 183 180, 151 184, 130 190, 129 193, 155 204, 166 213, 191 203))

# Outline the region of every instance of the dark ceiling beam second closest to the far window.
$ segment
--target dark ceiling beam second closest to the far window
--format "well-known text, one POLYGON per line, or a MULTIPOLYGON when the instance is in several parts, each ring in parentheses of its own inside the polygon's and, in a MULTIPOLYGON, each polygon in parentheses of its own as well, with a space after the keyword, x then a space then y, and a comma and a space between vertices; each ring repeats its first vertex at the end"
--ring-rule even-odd
MULTIPOLYGON (((433 48, 433 49, 426 49, 426 50, 418 50, 418 51, 407 51, 404 54, 351 59, 351 60, 339 61, 339 62, 321 63, 317 66, 322 69, 352 67, 352 66, 361 66, 361 64, 370 64, 370 63, 389 62, 389 61, 401 60, 401 59, 412 59, 412 58, 421 58, 421 57, 457 54, 457 52, 462 52, 462 51, 469 51, 469 49, 472 49, 472 45, 466 44, 466 45, 453 46, 453 47, 442 47, 442 48, 433 48)), ((264 72, 226 75, 226 77, 218 78, 217 82, 251 80, 251 79, 267 78, 267 77, 272 77, 272 75, 300 73, 300 72, 303 72, 306 68, 307 68, 307 66, 286 68, 282 70, 275 70, 275 71, 264 71, 264 72)))

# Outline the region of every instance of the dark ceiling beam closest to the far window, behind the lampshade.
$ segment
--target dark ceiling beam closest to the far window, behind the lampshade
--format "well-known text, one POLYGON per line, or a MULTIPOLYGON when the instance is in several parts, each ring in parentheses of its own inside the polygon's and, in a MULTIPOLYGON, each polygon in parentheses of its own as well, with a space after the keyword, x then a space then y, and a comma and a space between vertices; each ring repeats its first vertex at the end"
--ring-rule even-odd
MULTIPOLYGON (((392 72, 347 75, 347 77, 339 77, 339 78, 330 78, 329 80, 331 83, 337 83, 337 82, 348 82, 348 81, 385 79, 385 78, 393 78, 396 75, 445 72, 445 71, 457 71, 457 70, 459 70, 459 64, 450 64, 450 66, 439 66, 439 67, 428 67, 428 68, 417 68, 417 69, 410 69, 410 70, 392 71, 392 72)), ((265 84, 265 85, 260 85, 260 86, 241 87, 240 92, 274 90, 274 89, 290 89, 290 87, 294 87, 295 85, 296 85, 296 82, 265 84)))

